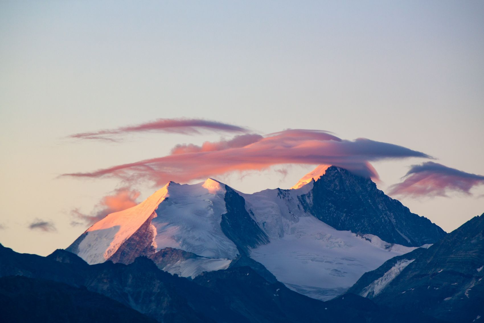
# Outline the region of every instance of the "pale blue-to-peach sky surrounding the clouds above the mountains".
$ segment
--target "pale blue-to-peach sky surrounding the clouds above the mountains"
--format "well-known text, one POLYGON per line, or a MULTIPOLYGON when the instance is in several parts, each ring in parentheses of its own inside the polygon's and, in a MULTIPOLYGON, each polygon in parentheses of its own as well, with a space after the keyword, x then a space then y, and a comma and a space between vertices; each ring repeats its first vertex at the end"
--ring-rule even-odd
MULTIPOLYGON (((40 255, 65 248, 86 229, 70 225, 71 211, 90 213, 120 187, 63 173, 220 140, 67 137, 159 118, 327 130, 483 175, 483 53, 483 1, 1 1, 0 243, 40 255)), ((423 161, 373 163, 378 187, 390 191, 423 161)), ((217 179, 250 193, 289 188, 314 167, 217 179)), ((154 192, 136 188, 138 201, 154 192)), ((399 200, 452 231, 484 212, 483 185, 471 193, 399 200)))

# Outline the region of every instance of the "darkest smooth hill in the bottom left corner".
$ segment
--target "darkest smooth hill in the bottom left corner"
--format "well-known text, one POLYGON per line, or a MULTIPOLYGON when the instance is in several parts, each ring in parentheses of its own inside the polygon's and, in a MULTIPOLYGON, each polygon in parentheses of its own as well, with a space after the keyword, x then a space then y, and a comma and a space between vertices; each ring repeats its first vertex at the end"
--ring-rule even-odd
POLYGON ((0 278, 2 322, 140 322, 156 321, 106 296, 52 280, 0 278))

